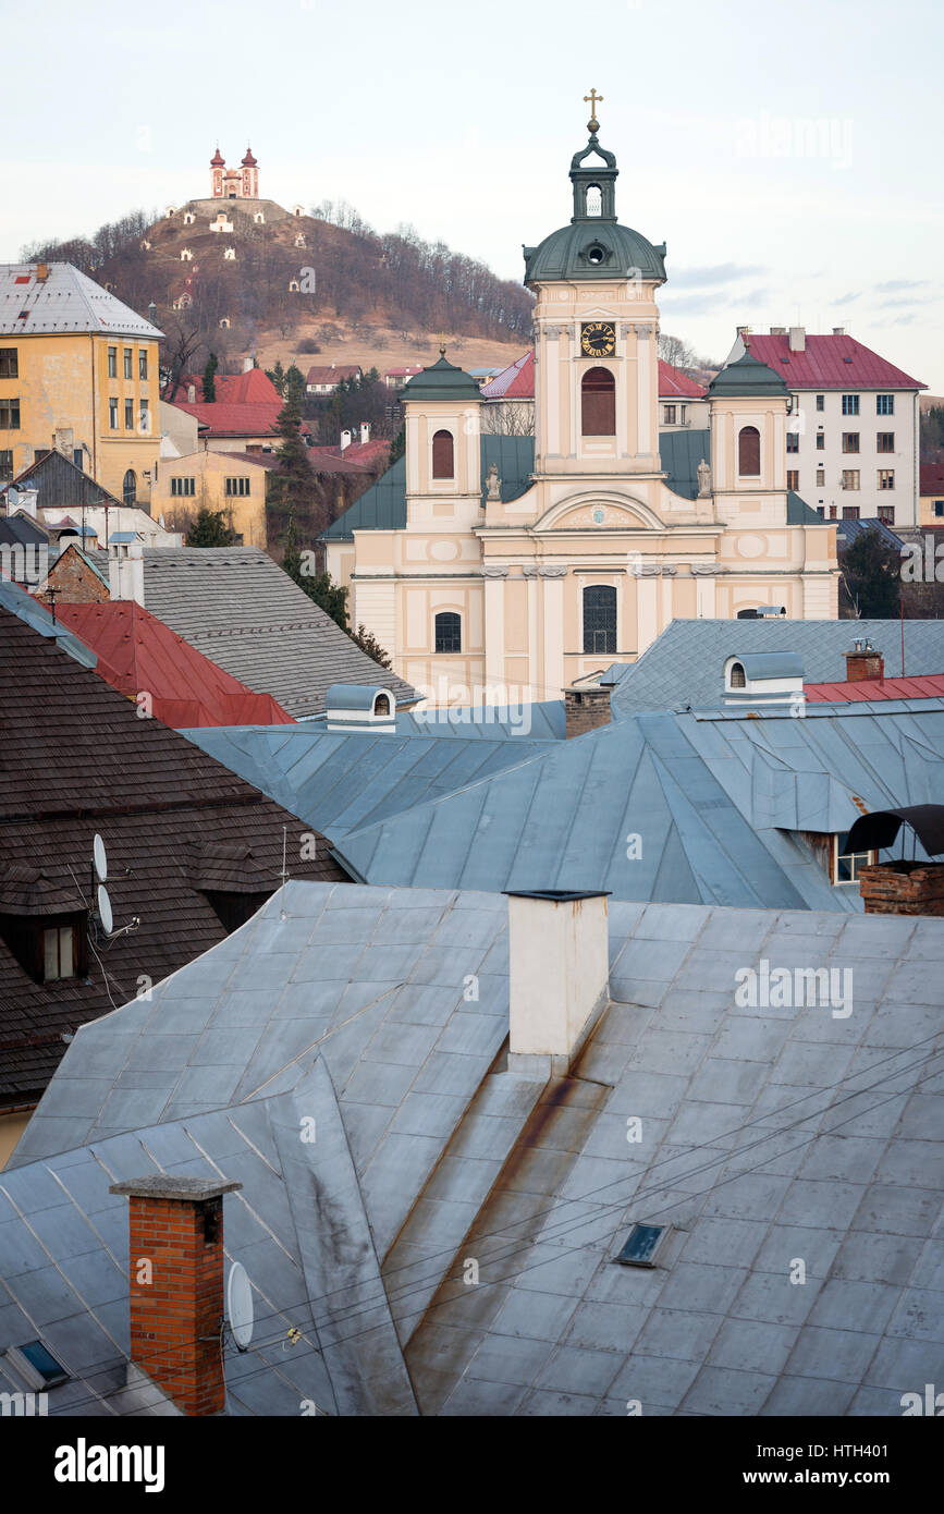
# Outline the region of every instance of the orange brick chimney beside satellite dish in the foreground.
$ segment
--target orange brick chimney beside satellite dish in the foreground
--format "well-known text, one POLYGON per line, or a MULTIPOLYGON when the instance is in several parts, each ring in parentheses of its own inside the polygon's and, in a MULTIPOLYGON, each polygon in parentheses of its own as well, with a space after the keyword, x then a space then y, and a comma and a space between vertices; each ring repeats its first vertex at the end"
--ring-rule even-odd
POLYGON ((241 1187, 160 1173, 109 1188, 129 1198, 132 1361, 185 1414, 225 1407, 222 1195, 241 1187))

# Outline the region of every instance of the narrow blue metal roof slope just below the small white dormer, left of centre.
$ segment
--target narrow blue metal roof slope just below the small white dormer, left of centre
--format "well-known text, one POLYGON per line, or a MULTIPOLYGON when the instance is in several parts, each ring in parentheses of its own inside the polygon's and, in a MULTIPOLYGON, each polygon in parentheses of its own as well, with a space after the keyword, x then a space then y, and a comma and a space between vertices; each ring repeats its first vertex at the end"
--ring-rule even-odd
POLYGON ((330 840, 452 793, 548 745, 514 736, 513 728, 496 734, 489 725, 446 727, 439 739, 422 728, 401 734, 399 725, 396 733, 330 733, 321 722, 200 727, 183 734, 330 840))

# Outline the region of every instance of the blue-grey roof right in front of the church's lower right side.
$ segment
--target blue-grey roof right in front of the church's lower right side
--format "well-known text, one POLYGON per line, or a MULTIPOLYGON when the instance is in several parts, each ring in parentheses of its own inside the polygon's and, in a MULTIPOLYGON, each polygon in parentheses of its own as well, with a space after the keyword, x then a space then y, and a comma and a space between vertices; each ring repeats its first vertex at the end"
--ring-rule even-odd
MULTIPOLYGON (((791 651, 803 663, 806 683, 843 683, 844 653, 853 637, 868 636, 885 657, 885 677, 902 677, 899 621, 672 621, 635 663, 616 663, 611 706, 617 716, 634 710, 696 709, 719 704, 725 660, 735 653, 791 651)), ((944 672, 944 621, 905 621, 905 672, 944 672)))

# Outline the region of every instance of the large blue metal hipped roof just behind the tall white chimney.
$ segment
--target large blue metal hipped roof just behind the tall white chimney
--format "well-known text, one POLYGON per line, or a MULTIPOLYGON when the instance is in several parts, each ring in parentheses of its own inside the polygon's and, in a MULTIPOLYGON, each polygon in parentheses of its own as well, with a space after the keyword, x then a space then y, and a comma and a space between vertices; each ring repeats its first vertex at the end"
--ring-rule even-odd
POLYGON ((799 833, 847 831, 862 804, 933 802, 944 701, 855 710, 626 716, 365 824, 336 854, 378 886, 856 911, 858 887, 834 887, 799 833))

